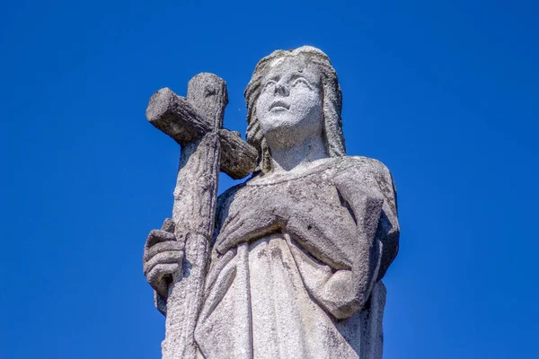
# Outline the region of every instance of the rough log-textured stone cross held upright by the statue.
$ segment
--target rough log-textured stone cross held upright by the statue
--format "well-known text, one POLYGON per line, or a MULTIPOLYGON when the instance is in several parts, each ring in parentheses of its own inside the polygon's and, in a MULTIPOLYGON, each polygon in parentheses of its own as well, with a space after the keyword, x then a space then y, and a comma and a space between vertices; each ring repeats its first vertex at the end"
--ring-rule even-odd
POLYGON ((184 256, 168 288, 163 359, 196 355, 193 333, 213 236, 219 169, 241 179, 256 167, 257 151, 222 128, 227 102, 225 81, 203 73, 190 80, 187 99, 164 88, 146 109, 148 121, 181 144, 172 221, 184 256))

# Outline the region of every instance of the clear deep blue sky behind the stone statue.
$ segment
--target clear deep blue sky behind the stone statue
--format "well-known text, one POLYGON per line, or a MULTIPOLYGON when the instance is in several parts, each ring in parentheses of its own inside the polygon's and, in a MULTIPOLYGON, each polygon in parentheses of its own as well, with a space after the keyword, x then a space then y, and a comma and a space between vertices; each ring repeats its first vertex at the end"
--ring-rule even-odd
MULTIPOLYGON (((539 358, 534 1, 12 1, 0 7, 0 358, 158 358, 142 274, 179 150, 149 97, 322 48, 351 155, 399 190, 384 358, 539 358)), ((221 180, 222 191, 232 180, 221 180)))

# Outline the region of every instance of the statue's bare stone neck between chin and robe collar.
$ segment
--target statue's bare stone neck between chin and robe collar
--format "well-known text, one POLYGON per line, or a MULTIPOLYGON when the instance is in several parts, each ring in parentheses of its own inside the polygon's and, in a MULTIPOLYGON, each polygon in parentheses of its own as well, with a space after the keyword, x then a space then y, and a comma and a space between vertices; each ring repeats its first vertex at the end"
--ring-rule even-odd
POLYGON ((310 162, 328 157, 322 136, 305 138, 300 144, 282 148, 270 146, 271 173, 283 174, 308 166, 310 162))

